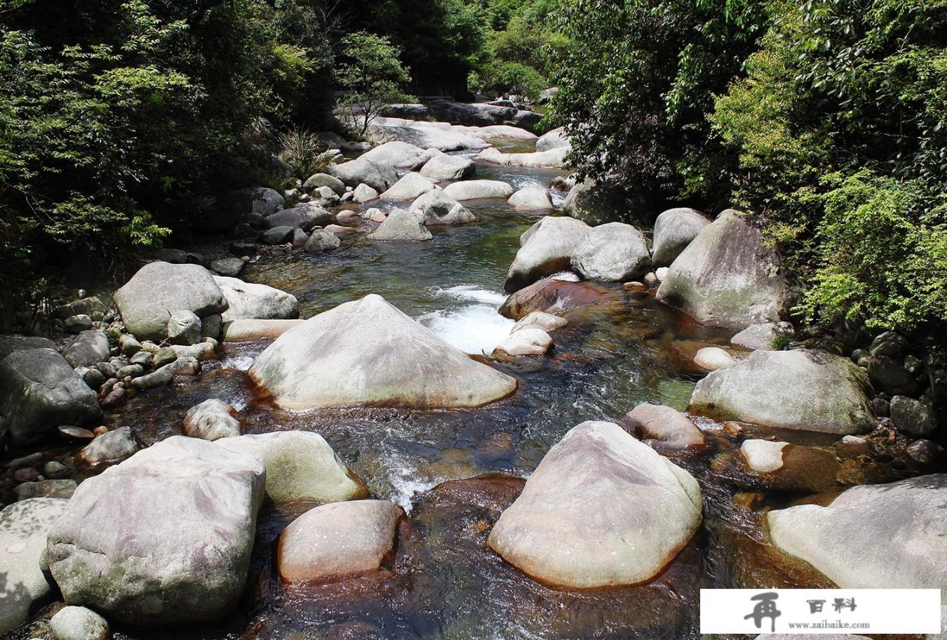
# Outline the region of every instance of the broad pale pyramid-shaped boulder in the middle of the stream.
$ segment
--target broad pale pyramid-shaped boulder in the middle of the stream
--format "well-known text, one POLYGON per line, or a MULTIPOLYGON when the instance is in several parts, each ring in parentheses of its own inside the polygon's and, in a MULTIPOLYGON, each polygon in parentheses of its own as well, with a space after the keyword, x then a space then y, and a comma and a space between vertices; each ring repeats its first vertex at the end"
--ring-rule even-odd
POLYGON ((289 409, 346 405, 475 407, 516 389, 380 295, 366 295, 290 329, 250 379, 289 409))

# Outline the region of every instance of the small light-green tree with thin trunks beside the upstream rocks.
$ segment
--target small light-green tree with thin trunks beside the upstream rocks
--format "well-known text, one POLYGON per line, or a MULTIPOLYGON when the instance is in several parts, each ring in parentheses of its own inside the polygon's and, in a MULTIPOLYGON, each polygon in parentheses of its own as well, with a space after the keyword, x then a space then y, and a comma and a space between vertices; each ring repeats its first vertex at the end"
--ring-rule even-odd
POLYGON ((413 99, 403 91, 410 76, 399 60, 398 47, 383 36, 359 31, 342 44, 343 58, 335 75, 346 93, 339 104, 348 124, 364 136, 386 105, 413 99))

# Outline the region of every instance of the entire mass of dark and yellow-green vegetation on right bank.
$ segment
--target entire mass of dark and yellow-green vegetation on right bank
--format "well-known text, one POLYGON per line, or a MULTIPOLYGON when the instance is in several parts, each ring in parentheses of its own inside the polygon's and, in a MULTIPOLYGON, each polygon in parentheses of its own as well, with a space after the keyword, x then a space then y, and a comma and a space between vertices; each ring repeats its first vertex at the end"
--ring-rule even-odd
POLYGON ((947 2, 580 0, 554 119, 581 170, 733 203, 848 331, 947 321, 947 2))

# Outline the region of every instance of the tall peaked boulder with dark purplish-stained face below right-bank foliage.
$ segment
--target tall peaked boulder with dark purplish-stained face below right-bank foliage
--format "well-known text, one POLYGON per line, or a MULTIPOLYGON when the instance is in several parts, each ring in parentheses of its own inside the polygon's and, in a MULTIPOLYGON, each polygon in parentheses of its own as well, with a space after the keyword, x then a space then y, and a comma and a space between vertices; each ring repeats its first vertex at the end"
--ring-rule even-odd
POLYGON ((674 259, 657 298, 702 324, 744 329, 778 320, 785 289, 759 229, 728 209, 674 259))

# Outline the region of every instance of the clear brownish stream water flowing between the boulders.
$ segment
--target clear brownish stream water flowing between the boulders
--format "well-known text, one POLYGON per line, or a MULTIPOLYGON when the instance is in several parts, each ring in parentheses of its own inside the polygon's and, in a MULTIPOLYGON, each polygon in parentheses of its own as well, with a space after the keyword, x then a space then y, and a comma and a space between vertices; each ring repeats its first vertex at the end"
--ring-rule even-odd
MULTIPOLYGON (((510 147, 524 151, 522 144, 510 147)), ((558 174, 478 170, 478 177, 514 187, 545 186, 558 174)), ((295 294, 302 317, 380 293, 456 347, 489 354, 512 325, 496 310, 506 297, 503 281, 518 237, 542 214, 517 213, 502 201, 465 204, 477 222, 433 229, 428 242, 371 242, 353 233, 325 255, 259 258, 242 277, 295 294)), ((184 413, 208 398, 236 406, 246 433, 319 433, 373 496, 398 503, 409 518, 384 572, 288 588, 275 576, 274 542, 312 505, 264 507, 249 586, 236 613, 206 627, 118 630, 119 637, 690 638, 698 633, 701 587, 820 585, 765 542, 760 495, 740 492, 739 472, 712 462, 732 455, 737 440, 700 419, 706 447, 666 453, 700 481, 705 523, 651 583, 558 591, 487 549, 491 525, 515 499, 522 478, 566 431, 583 420, 620 418, 639 402, 683 410, 700 377, 694 351, 728 342, 729 333, 701 327, 652 297, 613 289, 618 304, 570 316, 546 357, 494 363, 519 380, 519 389, 475 410, 279 410, 254 400, 245 381, 245 370, 266 347, 262 342, 225 344, 222 359, 205 363, 199 378, 135 397, 112 415, 111 426, 131 425, 145 444, 180 433, 184 413)))

